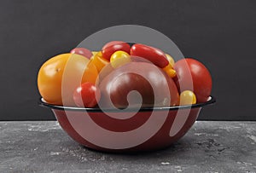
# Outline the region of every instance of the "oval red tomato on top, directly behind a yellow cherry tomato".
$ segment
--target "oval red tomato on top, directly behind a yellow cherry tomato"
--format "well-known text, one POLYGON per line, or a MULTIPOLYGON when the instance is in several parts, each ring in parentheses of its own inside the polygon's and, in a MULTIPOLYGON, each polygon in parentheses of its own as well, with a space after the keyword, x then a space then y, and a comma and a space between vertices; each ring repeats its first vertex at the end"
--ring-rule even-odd
POLYGON ((121 41, 109 42, 106 43, 102 48, 102 57, 110 61, 110 57, 115 51, 122 50, 125 51, 127 54, 130 54, 130 49, 131 46, 129 45, 129 43, 121 41))

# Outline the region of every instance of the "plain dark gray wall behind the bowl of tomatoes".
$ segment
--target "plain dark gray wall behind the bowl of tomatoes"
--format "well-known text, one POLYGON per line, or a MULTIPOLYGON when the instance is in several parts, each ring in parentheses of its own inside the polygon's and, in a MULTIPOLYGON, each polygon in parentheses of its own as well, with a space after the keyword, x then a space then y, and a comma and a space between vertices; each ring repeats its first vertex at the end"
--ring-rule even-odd
POLYGON ((170 37, 212 72, 217 104, 201 119, 256 120, 253 0, 4 0, 0 4, 0 120, 53 119, 38 107, 37 73, 108 26, 136 24, 170 37))

